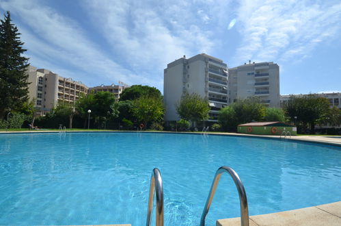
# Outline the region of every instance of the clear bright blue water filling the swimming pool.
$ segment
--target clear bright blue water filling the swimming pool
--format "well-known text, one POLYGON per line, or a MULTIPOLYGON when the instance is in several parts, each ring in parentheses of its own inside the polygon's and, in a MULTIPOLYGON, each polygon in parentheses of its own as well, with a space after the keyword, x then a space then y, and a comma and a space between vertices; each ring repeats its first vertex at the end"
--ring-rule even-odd
MULTIPOLYGON (((0 225, 144 225, 154 167, 165 225, 199 225, 223 165, 241 177, 250 215, 341 200, 340 147, 194 134, 1 134, 0 225)), ((239 211, 224 174, 206 223, 239 211)))

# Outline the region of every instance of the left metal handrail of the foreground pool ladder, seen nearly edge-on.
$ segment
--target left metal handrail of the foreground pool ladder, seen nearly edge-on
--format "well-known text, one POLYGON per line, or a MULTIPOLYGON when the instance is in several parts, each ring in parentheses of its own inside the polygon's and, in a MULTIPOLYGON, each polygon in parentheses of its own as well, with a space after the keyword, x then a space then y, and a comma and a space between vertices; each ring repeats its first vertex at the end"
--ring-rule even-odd
POLYGON ((153 169, 152 177, 150 178, 147 226, 150 226, 152 223, 154 193, 156 193, 156 226, 163 226, 163 186, 161 173, 158 168, 153 169))

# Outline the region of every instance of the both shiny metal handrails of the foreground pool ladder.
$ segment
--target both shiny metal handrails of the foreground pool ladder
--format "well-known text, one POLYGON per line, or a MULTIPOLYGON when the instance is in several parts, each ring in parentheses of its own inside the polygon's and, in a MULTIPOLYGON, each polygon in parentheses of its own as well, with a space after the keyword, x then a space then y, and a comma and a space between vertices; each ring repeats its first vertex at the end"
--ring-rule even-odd
MULTIPOLYGON (((202 212, 202 217, 200 220, 200 226, 205 225, 206 215, 210 210, 210 204, 213 201, 213 197, 215 195, 215 191, 217 190, 217 186, 219 184, 219 180, 222 173, 228 173, 232 177, 234 184, 238 190, 239 201, 241 204, 241 225, 249 226, 249 208, 247 205, 247 197, 245 188, 241 179, 239 178, 236 171, 228 166, 221 166, 218 168, 215 173, 215 177, 213 179, 213 184, 210 187, 210 192, 208 194, 206 204, 204 207, 204 211, 202 212)), ((158 168, 154 168, 152 172, 152 177, 150 178, 150 192, 148 199, 148 212, 147 212, 147 226, 150 226, 152 223, 152 207, 154 201, 154 193, 156 193, 156 226, 163 226, 163 186, 162 186, 162 178, 161 173, 158 168)))

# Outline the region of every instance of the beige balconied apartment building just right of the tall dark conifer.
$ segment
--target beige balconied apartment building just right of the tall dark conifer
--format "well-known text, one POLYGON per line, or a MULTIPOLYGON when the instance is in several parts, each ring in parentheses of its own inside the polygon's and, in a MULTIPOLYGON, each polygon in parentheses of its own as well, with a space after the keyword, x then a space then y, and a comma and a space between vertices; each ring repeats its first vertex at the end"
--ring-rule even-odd
POLYGON ((37 114, 44 115, 50 112, 57 103, 73 104, 81 93, 87 93, 87 86, 80 81, 73 81, 46 69, 37 69, 29 66, 29 99, 36 100, 37 114))

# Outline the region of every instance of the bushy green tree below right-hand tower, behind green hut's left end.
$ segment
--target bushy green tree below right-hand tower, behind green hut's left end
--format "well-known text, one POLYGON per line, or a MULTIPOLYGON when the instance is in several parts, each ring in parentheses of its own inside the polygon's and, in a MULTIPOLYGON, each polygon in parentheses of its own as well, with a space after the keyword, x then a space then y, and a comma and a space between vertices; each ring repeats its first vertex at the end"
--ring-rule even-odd
POLYGON ((218 121, 224 130, 236 130, 237 125, 263 121, 265 105, 258 97, 238 99, 236 102, 219 110, 218 121))

